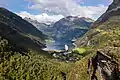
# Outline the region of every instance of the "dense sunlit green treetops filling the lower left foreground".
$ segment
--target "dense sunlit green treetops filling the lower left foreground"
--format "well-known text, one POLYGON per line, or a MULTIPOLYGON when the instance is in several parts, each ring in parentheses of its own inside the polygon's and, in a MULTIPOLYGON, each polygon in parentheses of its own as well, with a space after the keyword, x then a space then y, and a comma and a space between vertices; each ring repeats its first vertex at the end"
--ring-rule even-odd
POLYGON ((68 63, 32 51, 27 55, 11 52, 7 40, 0 43, 0 80, 63 80, 63 73, 69 73, 68 63))

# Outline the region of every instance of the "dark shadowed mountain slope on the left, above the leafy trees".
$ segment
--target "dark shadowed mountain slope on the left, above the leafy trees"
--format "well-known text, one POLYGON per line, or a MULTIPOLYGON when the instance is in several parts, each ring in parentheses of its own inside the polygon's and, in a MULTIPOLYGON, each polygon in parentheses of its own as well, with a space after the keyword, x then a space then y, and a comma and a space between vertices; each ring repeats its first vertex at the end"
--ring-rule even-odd
POLYGON ((40 48, 45 47, 46 35, 26 20, 2 7, 0 7, 0 36, 19 48, 39 51, 40 48))

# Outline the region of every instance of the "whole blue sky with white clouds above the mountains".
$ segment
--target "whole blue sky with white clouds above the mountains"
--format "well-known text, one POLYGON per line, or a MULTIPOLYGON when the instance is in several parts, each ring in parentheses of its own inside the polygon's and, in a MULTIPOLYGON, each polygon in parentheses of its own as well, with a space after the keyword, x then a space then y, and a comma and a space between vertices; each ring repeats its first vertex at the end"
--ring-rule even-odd
POLYGON ((1 7, 39 22, 56 22, 66 16, 97 19, 112 0, 2 0, 1 7))

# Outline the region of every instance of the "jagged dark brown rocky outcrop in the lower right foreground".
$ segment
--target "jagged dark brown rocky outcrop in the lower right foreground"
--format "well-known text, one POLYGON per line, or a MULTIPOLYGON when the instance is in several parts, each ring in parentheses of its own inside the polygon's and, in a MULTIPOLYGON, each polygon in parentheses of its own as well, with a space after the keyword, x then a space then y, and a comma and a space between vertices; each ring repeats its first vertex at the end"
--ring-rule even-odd
POLYGON ((120 80, 119 63, 102 51, 88 62, 90 80, 120 80))

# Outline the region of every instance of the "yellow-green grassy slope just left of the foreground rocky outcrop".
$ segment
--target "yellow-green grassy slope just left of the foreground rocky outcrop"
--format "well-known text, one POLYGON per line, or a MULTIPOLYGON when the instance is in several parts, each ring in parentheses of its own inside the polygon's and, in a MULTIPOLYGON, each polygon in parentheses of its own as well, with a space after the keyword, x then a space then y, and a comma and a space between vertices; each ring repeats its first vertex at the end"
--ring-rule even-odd
POLYGON ((89 80, 90 77, 87 73, 88 70, 88 59, 90 59, 93 54, 87 55, 80 61, 77 61, 72 67, 71 72, 68 74, 68 80, 89 80))

